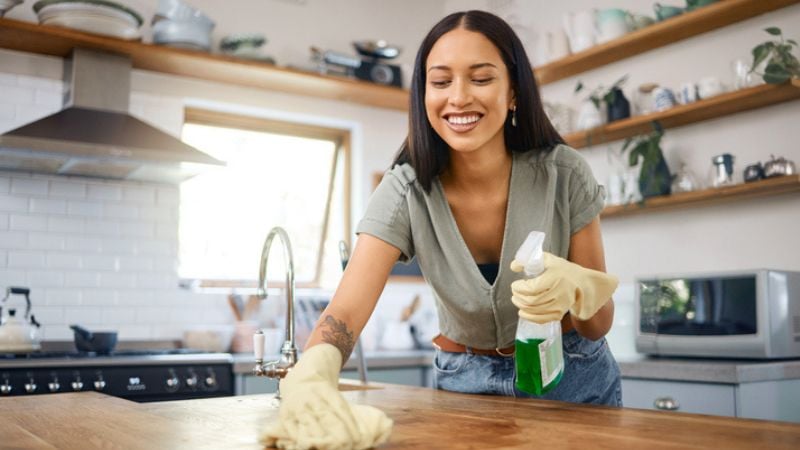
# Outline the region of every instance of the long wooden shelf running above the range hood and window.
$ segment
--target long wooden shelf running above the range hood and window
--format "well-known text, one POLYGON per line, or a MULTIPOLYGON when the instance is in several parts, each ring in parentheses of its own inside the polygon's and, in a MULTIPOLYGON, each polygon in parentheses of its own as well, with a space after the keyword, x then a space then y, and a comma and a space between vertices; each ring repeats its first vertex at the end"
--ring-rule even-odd
POLYGON ((0 48, 67 57, 75 47, 128 55, 137 69, 379 108, 408 110, 408 91, 392 86, 0 18, 0 48))

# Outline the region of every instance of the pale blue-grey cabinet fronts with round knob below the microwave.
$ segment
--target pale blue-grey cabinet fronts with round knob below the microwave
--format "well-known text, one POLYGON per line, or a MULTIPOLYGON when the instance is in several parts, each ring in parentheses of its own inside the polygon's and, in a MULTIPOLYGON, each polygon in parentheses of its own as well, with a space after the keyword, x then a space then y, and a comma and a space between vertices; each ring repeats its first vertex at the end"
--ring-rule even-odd
POLYGON ((742 384, 622 379, 629 408, 800 422, 800 380, 742 384))

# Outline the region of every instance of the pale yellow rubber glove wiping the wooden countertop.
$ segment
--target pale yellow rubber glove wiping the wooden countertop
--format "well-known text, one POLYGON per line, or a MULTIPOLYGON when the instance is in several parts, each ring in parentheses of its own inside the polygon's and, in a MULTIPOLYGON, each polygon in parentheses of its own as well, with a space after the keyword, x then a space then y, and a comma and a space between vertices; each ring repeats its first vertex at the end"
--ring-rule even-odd
POLYGON ((389 438, 392 420, 377 408, 350 405, 339 393, 342 354, 331 344, 306 350, 281 381, 279 422, 261 441, 292 450, 367 449, 389 438))

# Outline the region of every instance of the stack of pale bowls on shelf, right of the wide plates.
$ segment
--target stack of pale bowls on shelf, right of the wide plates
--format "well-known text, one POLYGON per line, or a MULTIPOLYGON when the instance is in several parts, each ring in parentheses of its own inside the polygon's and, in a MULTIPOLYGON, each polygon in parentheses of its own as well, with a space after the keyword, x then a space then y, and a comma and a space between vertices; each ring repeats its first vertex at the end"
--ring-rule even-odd
POLYGON ((181 0, 159 0, 153 17, 153 43, 208 51, 214 22, 181 0))

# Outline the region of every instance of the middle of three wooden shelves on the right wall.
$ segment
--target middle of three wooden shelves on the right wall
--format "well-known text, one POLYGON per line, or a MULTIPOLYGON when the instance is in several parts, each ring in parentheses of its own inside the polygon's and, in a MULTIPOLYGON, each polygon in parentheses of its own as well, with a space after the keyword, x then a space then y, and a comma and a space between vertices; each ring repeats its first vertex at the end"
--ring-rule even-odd
POLYGON ((652 122, 655 120, 665 129, 676 128, 798 98, 800 98, 798 80, 779 85, 763 84, 687 105, 678 105, 666 111, 617 120, 601 127, 570 133, 564 136, 564 140, 574 148, 583 148, 649 133, 653 129, 652 122))

